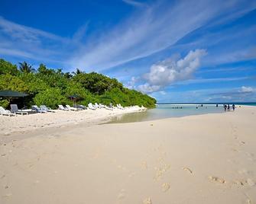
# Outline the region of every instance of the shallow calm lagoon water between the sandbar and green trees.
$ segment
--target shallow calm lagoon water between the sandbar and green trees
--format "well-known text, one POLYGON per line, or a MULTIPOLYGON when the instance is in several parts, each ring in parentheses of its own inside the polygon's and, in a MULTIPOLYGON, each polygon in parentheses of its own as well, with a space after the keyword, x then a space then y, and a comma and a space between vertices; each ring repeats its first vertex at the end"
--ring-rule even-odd
POLYGON ((120 116, 114 116, 109 123, 131 123, 148 120, 164 119, 169 117, 180 117, 199 115, 206 113, 222 113, 223 107, 215 107, 213 105, 204 105, 199 107, 196 105, 158 105, 155 109, 150 109, 140 113, 128 113, 120 116), (179 107, 179 108, 177 108, 179 107), (182 108, 181 108, 182 107, 182 108), (197 107, 197 108, 196 108, 197 107))

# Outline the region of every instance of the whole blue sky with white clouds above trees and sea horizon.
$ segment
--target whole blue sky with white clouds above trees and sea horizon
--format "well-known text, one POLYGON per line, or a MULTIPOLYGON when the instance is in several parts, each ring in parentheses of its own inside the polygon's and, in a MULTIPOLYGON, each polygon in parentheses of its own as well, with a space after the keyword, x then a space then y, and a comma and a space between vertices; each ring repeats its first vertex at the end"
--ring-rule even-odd
POLYGON ((0 58, 99 72, 157 103, 256 101, 256 0, 0 0, 0 58))

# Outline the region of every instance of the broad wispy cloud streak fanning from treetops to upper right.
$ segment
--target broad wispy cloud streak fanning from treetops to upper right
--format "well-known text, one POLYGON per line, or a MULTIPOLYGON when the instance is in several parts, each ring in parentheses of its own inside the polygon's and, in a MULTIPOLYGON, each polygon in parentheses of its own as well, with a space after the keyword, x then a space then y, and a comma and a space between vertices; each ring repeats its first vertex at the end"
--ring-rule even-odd
POLYGON ((86 70, 108 69, 149 56, 173 45, 187 33, 207 22, 236 11, 241 1, 191 1, 157 4, 134 14, 130 19, 85 44, 70 63, 86 70))

